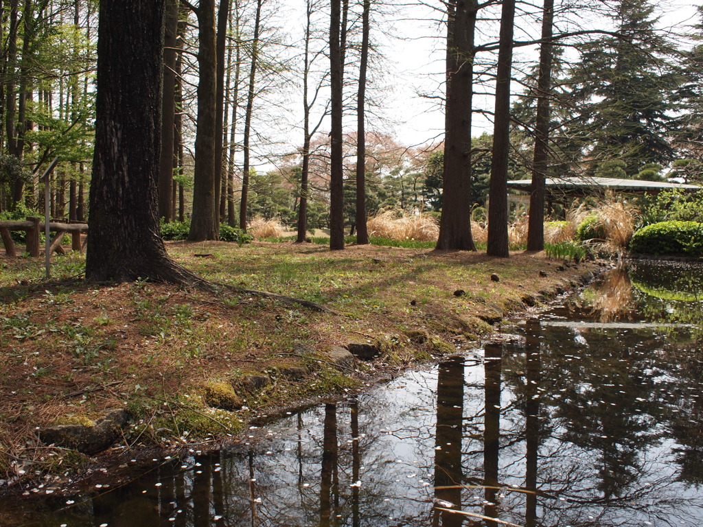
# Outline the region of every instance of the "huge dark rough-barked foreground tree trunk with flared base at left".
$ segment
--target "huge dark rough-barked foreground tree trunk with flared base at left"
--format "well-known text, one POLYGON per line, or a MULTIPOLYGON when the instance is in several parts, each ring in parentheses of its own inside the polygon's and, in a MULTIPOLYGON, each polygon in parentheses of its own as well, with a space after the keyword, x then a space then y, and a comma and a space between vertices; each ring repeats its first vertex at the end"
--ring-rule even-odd
POLYGON ((165 0, 100 4, 88 280, 198 282, 159 235, 164 13, 165 0))

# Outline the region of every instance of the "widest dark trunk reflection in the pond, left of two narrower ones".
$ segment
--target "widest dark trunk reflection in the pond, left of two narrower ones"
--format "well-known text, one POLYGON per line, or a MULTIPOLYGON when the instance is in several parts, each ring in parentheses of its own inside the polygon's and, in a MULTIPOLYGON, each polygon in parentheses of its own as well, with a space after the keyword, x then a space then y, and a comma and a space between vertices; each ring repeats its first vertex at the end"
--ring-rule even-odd
MULTIPOLYGON (((461 419, 464 411, 464 360, 451 358, 439 365, 437 375, 437 433, 434 450, 434 497, 461 509, 461 419), (451 486, 455 488, 441 488, 451 486)), ((460 514, 441 511, 434 515, 432 525, 460 526, 460 514)))

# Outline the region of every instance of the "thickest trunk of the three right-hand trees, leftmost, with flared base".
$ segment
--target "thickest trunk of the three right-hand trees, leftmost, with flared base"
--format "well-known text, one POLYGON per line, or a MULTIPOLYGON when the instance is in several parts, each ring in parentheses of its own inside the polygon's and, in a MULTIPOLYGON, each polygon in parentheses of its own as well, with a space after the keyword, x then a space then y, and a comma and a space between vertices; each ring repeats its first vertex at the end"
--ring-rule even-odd
POLYGON ((477 0, 450 4, 439 250, 475 251, 471 235, 471 117, 477 0))

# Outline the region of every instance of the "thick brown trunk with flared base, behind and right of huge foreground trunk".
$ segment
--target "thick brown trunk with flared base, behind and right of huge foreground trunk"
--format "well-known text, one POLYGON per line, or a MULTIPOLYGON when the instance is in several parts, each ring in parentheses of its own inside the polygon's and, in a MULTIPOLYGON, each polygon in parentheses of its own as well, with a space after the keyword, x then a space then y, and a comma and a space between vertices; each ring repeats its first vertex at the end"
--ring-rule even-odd
POLYGON ((193 171, 193 216, 188 240, 219 239, 215 229, 215 135, 217 117, 217 46, 215 44, 214 0, 198 4, 198 129, 195 132, 195 169, 193 171))

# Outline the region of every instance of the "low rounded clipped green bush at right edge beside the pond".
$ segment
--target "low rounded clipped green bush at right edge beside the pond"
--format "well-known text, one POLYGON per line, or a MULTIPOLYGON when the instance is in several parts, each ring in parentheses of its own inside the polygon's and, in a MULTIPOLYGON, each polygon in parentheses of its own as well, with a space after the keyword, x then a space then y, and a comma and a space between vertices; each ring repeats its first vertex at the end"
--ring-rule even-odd
POLYGON ((703 256, 703 225, 697 221, 661 221, 638 230, 630 242, 631 252, 703 256))

